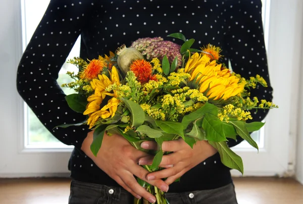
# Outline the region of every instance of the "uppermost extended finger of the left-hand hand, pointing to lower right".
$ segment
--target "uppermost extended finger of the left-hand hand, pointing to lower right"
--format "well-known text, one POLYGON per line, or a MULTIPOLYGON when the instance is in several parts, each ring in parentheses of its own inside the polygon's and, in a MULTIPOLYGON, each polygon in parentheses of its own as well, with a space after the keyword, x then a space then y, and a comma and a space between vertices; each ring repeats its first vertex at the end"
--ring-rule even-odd
POLYGON ((144 169, 143 167, 140 167, 138 165, 131 166, 130 172, 133 175, 135 175, 136 177, 149 183, 150 185, 157 186, 164 192, 168 191, 169 186, 163 180, 159 179, 159 180, 148 181, 146 176, 147 176, 147 174, 149 174, 149 172, 146 169, 144 169))

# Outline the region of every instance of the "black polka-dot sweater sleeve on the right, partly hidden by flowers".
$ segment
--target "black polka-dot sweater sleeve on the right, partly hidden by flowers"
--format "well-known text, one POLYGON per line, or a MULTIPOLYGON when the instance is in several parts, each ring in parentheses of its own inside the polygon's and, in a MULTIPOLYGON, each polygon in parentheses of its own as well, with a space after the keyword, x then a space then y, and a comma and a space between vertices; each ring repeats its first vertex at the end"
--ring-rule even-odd
MULTIPOLYGON (((268 87, 257 85, 256 89, 250 90, 250 98, 258 97, 259 100, 272 101, 272 87, 267 65, 267 56, 264 42, 262 23, 261 0, 226 0, 225 2, 225 40, 224 49, 227 58, 231 62, 234 72, 245 79, 257 74, 262 76, 268 87)), ((247 122, 262 121, 268 110, 252 110, 252 120, 247 122)), ((243 139, 230 140, 229 146, 239 144, 243 139)))

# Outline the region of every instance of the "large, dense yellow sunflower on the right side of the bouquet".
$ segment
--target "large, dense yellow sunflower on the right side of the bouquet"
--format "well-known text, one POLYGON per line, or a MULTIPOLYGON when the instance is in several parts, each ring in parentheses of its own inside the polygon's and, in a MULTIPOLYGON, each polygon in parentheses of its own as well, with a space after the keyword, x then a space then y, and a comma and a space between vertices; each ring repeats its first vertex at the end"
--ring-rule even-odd
POLYGON ((239 94, 244 85, 240 78, 231 74, 229 69, 221 69, 222 65, 204 55, 195 53, 190 57, 185 72, 191 75, 189 81, 197 85, 199 92, 213 100, 228 99, 239 94), (186 69, 187 68, 187 69, 186 69))

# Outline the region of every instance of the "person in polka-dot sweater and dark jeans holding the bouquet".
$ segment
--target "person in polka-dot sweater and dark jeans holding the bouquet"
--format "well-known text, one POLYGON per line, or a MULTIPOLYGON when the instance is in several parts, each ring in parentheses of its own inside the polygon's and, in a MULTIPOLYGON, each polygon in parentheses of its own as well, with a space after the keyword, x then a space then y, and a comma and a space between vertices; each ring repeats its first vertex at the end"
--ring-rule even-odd
MULTIPOLYGON (((85 120, 70 110, 56 79, 80 34, 80 57, 93 59, 138 38, 171 40, 168 34, 182 32, 196 39, 193 47, 220 46, 223 62, 230 61, 241 76, 264 77, 269 86, 252 90, 251 96, 270 101, 261 9, 261 0, 51 1, 20 61, 17 87, 42 124, 60 141, 75 146, 69 161, 73 178, 70 203, 132 203, 131 194, 155 202, 134 175, 168 192, 170 203, 237 203, 230 169, 205 141, 197 142, 193 149, 182 140, 165 142, 163 150, 174 152, 162 160, 167 169, 148 174, 138 163, 148 164, 152 158, 119 135, 105 135, 94 157, 89 148, 92 131, 87 127, 53 130, 63 123, 85 120)), ((266 114, 252 115, 261 121, 266 114)), ((229 145, 241 141, 229 141, 229 145)), ((155 145, 145 142, 142 147, 155 145)))

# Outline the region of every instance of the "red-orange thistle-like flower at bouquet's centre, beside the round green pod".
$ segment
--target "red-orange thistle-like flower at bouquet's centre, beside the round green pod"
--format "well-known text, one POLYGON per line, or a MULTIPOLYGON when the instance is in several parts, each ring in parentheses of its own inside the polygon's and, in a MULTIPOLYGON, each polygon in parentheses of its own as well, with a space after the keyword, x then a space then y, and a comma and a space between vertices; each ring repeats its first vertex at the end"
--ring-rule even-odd
POLYGON ((152 76, 151 73, 152 67, 149 62, 145 60, 135 60, 130 65, 130 71, 132 71, 137 80, 141 83, 147 83, 149 80, 157 79, 154 75, 152 76))

